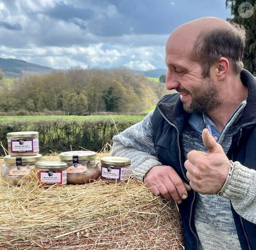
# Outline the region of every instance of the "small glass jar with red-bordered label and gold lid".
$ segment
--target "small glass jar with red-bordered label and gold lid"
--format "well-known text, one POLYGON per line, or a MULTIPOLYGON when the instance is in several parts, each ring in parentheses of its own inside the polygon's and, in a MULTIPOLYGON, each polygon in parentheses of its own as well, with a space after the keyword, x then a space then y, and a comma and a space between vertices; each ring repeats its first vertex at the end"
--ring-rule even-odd
POLYGON ((35 164, 36 175, 42 186, 67 184, 67 164, 59 161, 41 161, 35 164))

